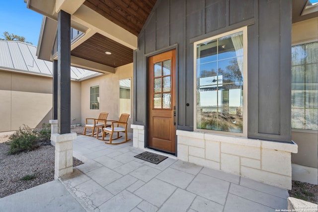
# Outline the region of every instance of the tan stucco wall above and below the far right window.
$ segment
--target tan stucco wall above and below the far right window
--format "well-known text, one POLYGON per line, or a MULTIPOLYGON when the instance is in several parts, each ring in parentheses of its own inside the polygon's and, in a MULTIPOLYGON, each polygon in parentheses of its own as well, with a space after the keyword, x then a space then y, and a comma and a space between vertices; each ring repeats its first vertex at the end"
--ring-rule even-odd
MULTIPOLYGON (((292 43, 306 43, 318 39, 318 17, 292 25, 292 43)), ((292 131, 292 140, 298 144, 298 153, 292 154, 292 163, 318 168, 318 132, 292 131)))

